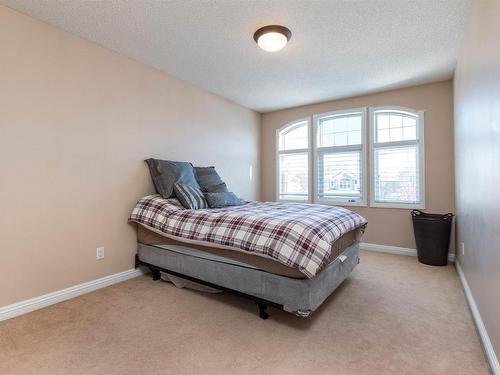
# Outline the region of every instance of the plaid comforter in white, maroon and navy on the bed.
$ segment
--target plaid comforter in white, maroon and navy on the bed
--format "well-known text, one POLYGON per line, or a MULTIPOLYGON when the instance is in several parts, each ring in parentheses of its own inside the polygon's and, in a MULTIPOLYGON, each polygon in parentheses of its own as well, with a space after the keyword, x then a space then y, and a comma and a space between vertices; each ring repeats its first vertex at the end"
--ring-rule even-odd
POLYGON ((307 203, 248 202, 187 210, 176 199, 142 198, 129 221, 178 241, 246 251, 297 268, 312 278, 328 261, 332 244, 366 225, 355 212, 307 203))

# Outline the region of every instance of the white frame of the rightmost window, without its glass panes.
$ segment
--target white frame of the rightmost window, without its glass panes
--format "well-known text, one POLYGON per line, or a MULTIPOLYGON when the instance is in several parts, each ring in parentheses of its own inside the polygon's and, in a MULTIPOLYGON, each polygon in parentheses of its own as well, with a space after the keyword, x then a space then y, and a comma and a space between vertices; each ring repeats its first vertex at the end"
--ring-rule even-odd
POLYGON ((379 208, 403 208, 403 209, 425 209, 425 144, 424 144, 424 112, 417 111, 407 107, 398 106, 384 106, 384 107, 370 107, 369 110, 369 143, 370 143, 370 207, 379 208), (397 141, 397 142, 382 142, 376 143, 375 135, 375 112, 377 111, 391 111, 402 112, 411 114, 417 117, 417 134, 418 140, 415 141, 397 141), (376 202, 375 201, 375 150, 382 147, 397 147, 397 146, 410 146, 417 145, 418 152, 418 173, 419 173, 419 203, 391 203, 391 202, 376 202))

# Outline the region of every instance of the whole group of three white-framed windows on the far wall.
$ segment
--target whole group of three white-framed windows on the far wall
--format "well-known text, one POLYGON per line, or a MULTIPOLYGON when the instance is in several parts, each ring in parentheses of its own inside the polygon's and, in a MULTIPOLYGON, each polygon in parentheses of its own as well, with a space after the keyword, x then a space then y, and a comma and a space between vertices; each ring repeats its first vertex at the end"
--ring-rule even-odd
POLYGON ((328 112, 314 115, 313 126, 305 118, 278 129, 278 200, 366 206, 369 187, 371 207, 425 208, 423 112, 367 112, 328 112))

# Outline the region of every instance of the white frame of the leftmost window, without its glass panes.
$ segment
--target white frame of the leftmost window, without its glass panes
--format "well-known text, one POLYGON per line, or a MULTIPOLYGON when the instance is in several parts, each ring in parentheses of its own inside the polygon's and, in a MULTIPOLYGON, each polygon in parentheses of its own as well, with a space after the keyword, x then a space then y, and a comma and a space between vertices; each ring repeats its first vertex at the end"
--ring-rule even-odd
POLYGON ((276 158, 275 158, 275 166, 276 166, 276 201, 278 202, 301 202, 301 203, 311 203, 311 194, 312 194, 312 183, 311 183, 311 119, 310 117, 300 118, 287 124, 283 125, 281 128, 276 129, 276 158), (299 123, 306 123, 307 126, 307 148, 301 148, 296 150, 280 150, 280 133, 293 125, 298 125, 299 123), (293 153, 304 153, 307 152, 307 199, 281 199, 280 196, 280 155, 281 154, 293 154, 293 153))

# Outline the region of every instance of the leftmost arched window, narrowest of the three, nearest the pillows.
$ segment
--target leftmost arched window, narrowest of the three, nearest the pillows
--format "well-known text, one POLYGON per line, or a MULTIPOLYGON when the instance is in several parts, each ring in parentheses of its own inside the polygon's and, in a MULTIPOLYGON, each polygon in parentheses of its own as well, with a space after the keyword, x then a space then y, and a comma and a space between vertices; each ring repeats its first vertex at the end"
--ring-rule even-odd
POLYGON ((309 200, 309 120, 278 129, 277 196, 279 200, 309 200))

